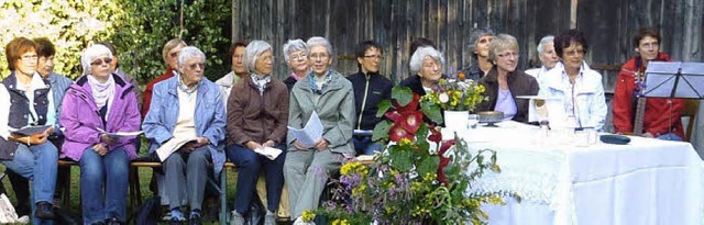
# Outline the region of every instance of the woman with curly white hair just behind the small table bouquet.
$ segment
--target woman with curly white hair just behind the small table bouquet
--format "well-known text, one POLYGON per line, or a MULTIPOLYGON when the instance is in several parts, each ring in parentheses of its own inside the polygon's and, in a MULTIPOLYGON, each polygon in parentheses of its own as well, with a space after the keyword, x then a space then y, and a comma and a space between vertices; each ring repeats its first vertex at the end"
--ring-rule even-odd
POLYGON ((440 79, 444 78, 442 75, 444 58, 433 47, 418 47, 410 57, 408 65, 410 72, 417 76, 410 76, 402 80, 399 85, 410 88, 411 91, 421 97, 430 93, 438 86, 440 79))

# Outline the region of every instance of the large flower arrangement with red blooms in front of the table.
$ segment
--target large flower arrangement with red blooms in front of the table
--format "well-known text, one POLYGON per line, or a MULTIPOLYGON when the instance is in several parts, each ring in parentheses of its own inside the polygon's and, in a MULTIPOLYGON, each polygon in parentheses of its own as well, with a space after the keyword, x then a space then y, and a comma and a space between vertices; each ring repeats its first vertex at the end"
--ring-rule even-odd
POLYGON ((470 153, 458 138, 442 140, 440 106, 395 87, 382 102, 373 139, 389 142, 373 162, 346 161, 332 180, 332 198, 316 212, 331 224, 484 224, 481 204, 503 204, 503 192, 471 193, 485 171, 501 171, 496 153, 470 153), (420 104, 420 106, 419 106, 420 104), (419 110, 420 109, 420 110, 419 110))

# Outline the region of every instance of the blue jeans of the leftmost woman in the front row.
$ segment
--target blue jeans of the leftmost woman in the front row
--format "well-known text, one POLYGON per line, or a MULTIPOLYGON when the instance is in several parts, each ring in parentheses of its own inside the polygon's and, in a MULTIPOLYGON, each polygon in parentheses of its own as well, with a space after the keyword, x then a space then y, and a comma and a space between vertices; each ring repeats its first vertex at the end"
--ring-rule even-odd
MULTIPOLYGON (((20 144, 12 160, 3 160, 8 169, 32 181, 32 216, 37 202, 52 203, 56 188, 58 150, 51 142, 26 146, 20 144)), ((51 221, 33 220, 33 224, 51 224, 51 221)))

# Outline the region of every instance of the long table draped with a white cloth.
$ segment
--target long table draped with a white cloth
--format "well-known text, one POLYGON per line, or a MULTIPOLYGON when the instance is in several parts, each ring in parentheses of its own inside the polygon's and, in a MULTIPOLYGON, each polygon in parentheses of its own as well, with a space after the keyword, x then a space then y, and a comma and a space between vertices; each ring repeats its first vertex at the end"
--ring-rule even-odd
POLYGON ((497 125, 459 134, 474 151, 496 150, 502 168, 485 172, 471 191, 522 199, 483 205, 492 225, 703 224, 702 160, 690 143, 630 137, 627 145, 585 146, 537 126, 497 125))

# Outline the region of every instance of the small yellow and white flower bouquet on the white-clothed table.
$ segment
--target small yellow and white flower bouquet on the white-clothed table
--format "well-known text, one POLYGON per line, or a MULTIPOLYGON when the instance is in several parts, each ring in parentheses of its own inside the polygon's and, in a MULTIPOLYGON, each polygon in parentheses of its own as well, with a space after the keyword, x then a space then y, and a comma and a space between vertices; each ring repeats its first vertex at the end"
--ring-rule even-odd
POLYGON ((464 74, 460 72, 457 80, 440 79, 438 87, 422 98, 443 110, 474 111, 474 106, 486 99, 482 95, 484 91, 484 86, 465 80, 464 74))

